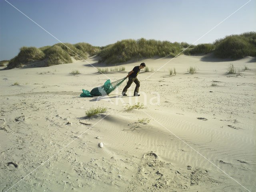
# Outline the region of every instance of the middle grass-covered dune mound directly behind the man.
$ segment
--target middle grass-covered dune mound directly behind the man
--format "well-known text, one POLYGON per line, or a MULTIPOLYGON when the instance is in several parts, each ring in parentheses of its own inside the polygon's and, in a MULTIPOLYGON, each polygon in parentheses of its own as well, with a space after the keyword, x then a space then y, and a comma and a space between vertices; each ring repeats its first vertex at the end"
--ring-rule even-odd
POLYGON ((153 56, 176 56, 182 50, 180 44, 168 41, 146 40, 144 38, 133 40, 127 39, 118 41, 102 48, 98 53, 101 57, 100 62, 115 64, 126 62, 133 58, 151 58, 153 56))

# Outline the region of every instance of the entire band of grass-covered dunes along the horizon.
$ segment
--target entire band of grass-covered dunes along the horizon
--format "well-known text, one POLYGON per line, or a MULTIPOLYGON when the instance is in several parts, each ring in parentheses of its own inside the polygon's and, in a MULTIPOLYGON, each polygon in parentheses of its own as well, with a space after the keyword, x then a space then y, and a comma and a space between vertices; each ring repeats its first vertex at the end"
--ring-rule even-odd
MULTIPOLYGON (((44 60, 47 66, 72 63, 97 55, 99 63, 116 64, 142 58, 175 57, 178 54, 204 55, 213 53, 218 58, 239 59, 256 56, 256 32, 230 35, 213 43, 190 45, 186 42, 126 39, 103 47, 92 46, 85 42, 76 44, 58 43, 53 46, 22 47, 17 56, 8 61, 6 69, 21 67, 33 61, 44 60)), ((3 61, 1 61, 3 62, 3 61)))

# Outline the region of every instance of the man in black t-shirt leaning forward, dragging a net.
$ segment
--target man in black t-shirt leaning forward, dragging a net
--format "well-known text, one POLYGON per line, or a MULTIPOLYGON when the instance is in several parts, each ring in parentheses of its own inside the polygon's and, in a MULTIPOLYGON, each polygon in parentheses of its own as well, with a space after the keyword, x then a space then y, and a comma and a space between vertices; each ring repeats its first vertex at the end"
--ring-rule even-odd
POLYGON ((131 86, 132 82, 134 82, 136 84, 136 88, 134 90, 133 95, 134 96, 140 96, 138 94, 139 87, 140 87, 140 82, 137 79, 137 75, 139 74, 140 70, 143 69, 144 67, 146 67, 145 63, 141 63, 140 66, 134 67, 133 70, 128 73, 128 75, 126 76, 126 77, 128 77, 128 82, 127 82, 127 85, 124 87, 124 90, 122 92, 123 96, 127 96, 126 91, 131 86))

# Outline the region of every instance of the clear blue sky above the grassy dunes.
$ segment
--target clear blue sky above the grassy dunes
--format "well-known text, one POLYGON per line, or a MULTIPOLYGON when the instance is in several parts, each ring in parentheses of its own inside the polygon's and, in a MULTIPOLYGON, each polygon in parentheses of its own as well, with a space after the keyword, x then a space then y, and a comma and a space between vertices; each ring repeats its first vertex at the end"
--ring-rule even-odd
POLYGON ((59 43, 6 1, 71 44, 139 38, 200 44, 256 31, 256 0, 0 0, 0 60, 13 58, 22 46, 59 43))

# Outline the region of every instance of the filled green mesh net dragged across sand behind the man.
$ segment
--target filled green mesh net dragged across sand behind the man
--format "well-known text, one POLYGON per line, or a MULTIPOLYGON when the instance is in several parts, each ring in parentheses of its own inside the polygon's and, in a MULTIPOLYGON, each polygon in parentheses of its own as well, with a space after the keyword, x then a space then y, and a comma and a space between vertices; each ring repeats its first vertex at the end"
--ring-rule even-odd
POLYGON ((100 87, 95 87, 93 88, 90 92, 88 90, 82 90, 82 94, 80 94, 80 97, 93 97, 93 96, 102 96, 102 95, 108 95, 110 94, 112 91, 114 91, 120 84, 122 84, 122 82, 124 82, 124 80, 126 79, 122 78, 120 80, 114 81, 114 82, 110 82, 110 80, 108 79, 103 86, 100 87))

